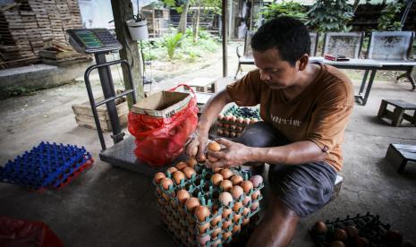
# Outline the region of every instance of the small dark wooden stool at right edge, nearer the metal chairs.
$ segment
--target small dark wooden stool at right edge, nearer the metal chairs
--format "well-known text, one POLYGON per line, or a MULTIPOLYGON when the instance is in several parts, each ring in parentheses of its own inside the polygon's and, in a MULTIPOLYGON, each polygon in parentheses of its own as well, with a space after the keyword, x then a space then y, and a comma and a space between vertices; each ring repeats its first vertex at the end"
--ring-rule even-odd
POLYGON ((416 125, 416 105, 400 99, 382 99, 377 117, 392 126, 415 126, 416 125), (393 111, 387 109, 388 105, 395 106, 393 111), (405 111, 413 111, 413 115, 408 115, 405 111), (407 120, 410 124, 402 124, 407 120))

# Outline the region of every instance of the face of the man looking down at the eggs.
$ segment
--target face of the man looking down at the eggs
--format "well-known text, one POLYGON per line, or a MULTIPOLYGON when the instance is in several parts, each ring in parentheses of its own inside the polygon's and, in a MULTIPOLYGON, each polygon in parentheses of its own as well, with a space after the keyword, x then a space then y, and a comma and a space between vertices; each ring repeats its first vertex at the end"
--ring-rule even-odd
POLYGON ((294 66, 282 60, 276 48, 264 52, 253 50, 254 64, 259 68, 260 79, 270 89, 285 89, 293 86, 298 76, 299 61, 294 66))

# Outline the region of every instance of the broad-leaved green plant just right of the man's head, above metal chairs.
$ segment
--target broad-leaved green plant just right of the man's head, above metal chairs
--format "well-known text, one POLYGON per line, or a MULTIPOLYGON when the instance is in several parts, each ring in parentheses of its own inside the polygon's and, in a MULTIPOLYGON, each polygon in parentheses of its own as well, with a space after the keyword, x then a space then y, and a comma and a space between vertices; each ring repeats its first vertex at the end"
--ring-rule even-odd
POLYGON ((310 29, 321 32, 350 31, 348 22, 352 20, 352 5, 347 0, 317 0, 308 12, 310 29))

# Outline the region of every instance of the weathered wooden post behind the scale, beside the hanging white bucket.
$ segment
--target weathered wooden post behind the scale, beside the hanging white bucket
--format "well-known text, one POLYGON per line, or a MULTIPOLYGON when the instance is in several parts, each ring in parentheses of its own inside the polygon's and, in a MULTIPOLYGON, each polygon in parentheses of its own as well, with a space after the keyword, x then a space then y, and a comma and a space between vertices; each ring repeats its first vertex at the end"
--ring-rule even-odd
MULTIPOLYGON (((120 58, 125 59, 132 66, 133 85, 136 88, 136 97, 138 99, 144 97, 143 83, 141 78, 140 53, 137 41, 132 40, 125 21, 132 19, 133 8, 131 0, 111 0, 113 16, 115 18, 115 34, 118 41, 122 44, 123 49, 120 50, 120 58)), ((129 87, 129 72, 127 68, 123 68, 123 81, 125 89, 129 87)), ((132 99, 129 98, 129 107, 132 106, 132 99)))

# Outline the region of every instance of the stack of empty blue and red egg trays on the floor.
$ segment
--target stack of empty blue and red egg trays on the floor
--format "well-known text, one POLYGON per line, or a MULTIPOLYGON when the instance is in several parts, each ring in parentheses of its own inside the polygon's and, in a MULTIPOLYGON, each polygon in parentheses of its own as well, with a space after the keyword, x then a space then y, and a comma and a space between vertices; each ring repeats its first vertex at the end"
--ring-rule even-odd
POLYGON ((92 162, 84 147, 42 141, 38 147, 0 167, 0 182, 22 185, 35 191, 50 185, 62 187, 63 183, 72 180, 73 173, 92 162))

